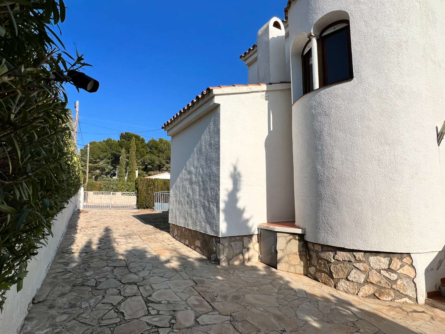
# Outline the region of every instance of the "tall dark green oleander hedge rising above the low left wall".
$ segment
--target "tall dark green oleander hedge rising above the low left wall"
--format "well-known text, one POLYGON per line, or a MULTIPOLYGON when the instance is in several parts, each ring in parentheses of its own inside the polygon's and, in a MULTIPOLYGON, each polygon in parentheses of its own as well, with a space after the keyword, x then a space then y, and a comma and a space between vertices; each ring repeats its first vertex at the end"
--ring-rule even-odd
POLYGON ((88 64, 64 51, 53 31, 63 20, 63 0, 0 1, 1 310, 6 291, 26 284, 28 262, 80 187, 61 81, 88 64))

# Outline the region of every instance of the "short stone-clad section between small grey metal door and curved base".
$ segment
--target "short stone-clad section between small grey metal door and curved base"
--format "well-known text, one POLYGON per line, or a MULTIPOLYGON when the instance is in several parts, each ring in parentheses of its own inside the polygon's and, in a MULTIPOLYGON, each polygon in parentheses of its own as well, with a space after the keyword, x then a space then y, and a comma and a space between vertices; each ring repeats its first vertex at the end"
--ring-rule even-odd
POLYGON ((277 232, 277 269, 307 275, 307 267, 303 235, 277 232))

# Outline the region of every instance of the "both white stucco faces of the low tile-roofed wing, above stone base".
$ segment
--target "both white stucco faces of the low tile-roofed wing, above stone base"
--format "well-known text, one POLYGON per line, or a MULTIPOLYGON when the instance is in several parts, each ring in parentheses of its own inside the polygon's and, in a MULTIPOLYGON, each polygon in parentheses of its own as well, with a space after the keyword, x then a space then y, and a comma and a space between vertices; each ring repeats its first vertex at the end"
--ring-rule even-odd
POLYGON ((216 91, 213 104, 199 102, 168 130, 170 223, 246 236, 258 224, 293 220, 290 85, 216 91))

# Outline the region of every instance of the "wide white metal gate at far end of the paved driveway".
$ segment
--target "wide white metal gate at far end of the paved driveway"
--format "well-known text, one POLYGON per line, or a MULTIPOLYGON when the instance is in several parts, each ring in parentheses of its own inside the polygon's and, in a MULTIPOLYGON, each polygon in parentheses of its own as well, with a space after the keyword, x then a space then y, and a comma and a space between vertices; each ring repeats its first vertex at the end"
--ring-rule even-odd
POLYGON ((84 209, 135 209, 135 192, 85 191, 84 209))

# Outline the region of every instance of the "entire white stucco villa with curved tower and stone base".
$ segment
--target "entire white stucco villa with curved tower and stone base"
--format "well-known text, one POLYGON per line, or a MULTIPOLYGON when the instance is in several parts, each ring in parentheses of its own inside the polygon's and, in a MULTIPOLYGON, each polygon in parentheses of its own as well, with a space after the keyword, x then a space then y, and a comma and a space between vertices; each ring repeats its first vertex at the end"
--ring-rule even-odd
POLYGON ((289 0, 240 56, 248 84, 164 124, 172 236, 362 297, 440 294, 444 17, 442 0, 289 0))

